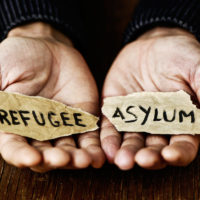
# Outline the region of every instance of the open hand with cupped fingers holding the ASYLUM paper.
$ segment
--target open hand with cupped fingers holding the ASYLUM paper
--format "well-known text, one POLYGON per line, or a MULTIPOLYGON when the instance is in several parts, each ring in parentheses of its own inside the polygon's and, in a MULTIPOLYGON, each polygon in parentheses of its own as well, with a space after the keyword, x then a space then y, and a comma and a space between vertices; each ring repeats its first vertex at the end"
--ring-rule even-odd
MULTIPOLYGON (((182 29, 156 28, 126 45, 107 74, 102 98, 141 91, 184 90, 200 101, 200 44, 182 29)), ((194 160, 197 136, 118 133, 103 116, 102 148, 120 169, 185 166, 194 160)))

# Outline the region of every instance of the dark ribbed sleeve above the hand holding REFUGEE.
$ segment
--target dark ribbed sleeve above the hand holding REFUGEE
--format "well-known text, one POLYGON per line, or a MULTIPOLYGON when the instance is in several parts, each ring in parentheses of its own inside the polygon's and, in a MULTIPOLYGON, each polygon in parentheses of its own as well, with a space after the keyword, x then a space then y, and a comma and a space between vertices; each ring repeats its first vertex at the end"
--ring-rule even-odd
POLYGON ((51 24, 69 36, 75 46, 81 45, 83 29, 79 0, 0 1, 0 40, 12 28, 35 21, 51 24))

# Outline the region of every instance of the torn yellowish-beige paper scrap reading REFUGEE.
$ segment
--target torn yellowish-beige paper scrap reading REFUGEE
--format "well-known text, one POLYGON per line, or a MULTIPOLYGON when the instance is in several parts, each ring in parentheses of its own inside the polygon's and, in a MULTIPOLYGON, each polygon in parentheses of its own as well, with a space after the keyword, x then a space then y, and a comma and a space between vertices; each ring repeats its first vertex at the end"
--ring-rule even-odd
POLYGON ((0 91, 0 130, 39 141, 98 128, 98 117, 42 97, 0 91))

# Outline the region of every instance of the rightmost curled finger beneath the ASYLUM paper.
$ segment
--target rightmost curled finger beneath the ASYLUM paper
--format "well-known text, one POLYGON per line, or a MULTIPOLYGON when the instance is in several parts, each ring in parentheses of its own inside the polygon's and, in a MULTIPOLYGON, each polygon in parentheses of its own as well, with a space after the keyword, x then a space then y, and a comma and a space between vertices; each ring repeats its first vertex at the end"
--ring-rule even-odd
POLYGON ((198 148, 199 140, 196 136, 171 136, 169 146, 162 150, 162 156, 170 165, 186 166, 194 160, 198 148))

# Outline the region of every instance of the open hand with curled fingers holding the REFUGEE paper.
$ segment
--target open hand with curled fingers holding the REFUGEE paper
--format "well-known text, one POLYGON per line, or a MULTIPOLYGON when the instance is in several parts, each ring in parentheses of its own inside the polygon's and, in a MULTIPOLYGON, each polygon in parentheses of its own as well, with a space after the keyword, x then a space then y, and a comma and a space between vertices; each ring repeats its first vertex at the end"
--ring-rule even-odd
MULTIPOLYGON (((89 68, 70 40, 43 23, 12 30, 0 44, 1 90, 42 96, 98 115, 98 92, 89 68)), ((37 172, 104 163, 98 131, 39 142, 0 133, 2 157, 37 172)))

